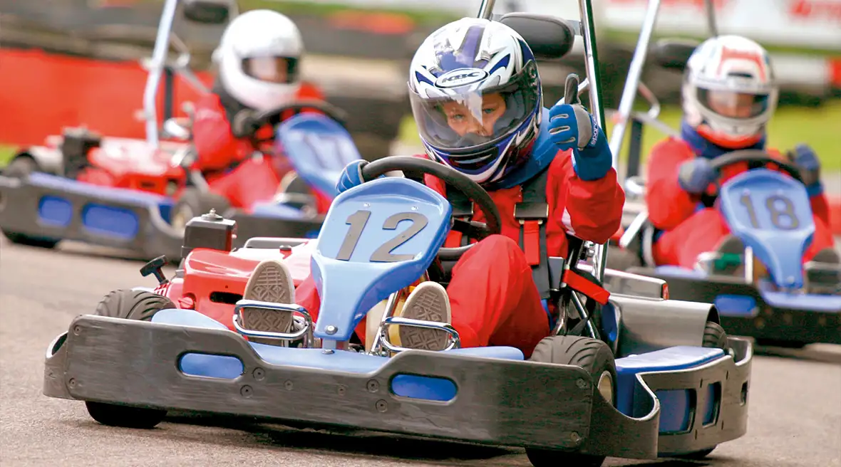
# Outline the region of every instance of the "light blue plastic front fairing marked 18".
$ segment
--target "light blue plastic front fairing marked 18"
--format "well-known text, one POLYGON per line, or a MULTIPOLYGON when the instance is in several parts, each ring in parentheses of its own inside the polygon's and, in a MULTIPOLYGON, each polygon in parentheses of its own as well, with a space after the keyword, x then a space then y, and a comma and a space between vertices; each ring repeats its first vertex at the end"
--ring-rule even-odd
POLYGON ((815 223, 801 182, 767 169, 747 171, 722 186, 720 209, 730 230, 768 268, 777 286, 803 286, 802 258, 815 223))

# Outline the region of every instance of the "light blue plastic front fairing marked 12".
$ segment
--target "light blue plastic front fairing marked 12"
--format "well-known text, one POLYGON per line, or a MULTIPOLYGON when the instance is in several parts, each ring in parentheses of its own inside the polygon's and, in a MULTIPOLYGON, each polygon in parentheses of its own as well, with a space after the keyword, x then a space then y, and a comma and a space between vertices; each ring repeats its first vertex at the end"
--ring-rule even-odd
POLYGON ((321 297, 315 336, 349 339, 371 307, 420 278, 451 213, 445 197, 405 178, 368 181, 336 197, 311 262, 321 297))

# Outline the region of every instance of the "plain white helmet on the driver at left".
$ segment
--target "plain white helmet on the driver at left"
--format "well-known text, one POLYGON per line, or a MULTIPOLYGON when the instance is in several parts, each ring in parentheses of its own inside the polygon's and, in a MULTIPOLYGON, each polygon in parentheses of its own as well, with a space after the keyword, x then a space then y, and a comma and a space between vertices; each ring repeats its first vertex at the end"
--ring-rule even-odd
POLYGON ((297 94, 304 41, 281 13, 251 10, 228 24, 214 61, 225 91, 258 111, 278 108, 297 94))

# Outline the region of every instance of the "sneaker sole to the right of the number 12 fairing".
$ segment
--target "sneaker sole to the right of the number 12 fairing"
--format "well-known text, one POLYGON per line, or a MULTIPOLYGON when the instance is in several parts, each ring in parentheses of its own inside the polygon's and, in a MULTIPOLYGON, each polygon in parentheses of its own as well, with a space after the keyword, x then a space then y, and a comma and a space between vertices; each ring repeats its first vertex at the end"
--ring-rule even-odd
MULTIPOLYGON (((406 298, 400 317, 450 323, 450 299, 447 291, 437 282, 421 282, 406 298)), ((406 349, 443 350, 447 348, 450 334, 442 329, 399 326, 399 345, 406 349)))

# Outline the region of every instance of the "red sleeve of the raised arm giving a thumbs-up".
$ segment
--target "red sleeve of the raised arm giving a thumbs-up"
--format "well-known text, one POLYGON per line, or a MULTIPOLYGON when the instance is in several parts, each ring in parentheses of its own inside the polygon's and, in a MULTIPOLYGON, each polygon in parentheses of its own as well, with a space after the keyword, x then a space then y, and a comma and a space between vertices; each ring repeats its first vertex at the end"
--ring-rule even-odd
POLYGON ((552 215, 579 239, 604 244, 621 224, 625 192, 614 169, 599 180, 583 181, 575 175, 572 155, 561 151, 549 167, 547 191, 556 197, 552 215))

